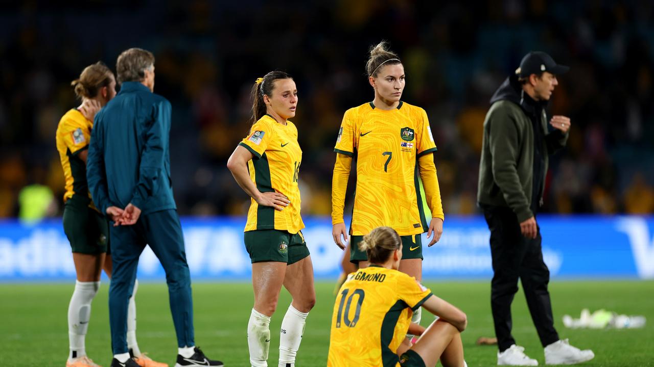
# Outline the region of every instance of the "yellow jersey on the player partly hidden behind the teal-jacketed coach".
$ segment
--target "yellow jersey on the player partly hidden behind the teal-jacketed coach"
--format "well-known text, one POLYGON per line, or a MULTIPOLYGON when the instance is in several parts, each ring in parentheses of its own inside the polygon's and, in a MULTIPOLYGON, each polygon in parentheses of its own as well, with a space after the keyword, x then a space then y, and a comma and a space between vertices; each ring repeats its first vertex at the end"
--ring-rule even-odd
POLYGON ((93 121, 86 120, 75 108, 66 112, 57 126, 56 144, 65 178, 64 202, 73 195, 80 195, 94 207, 86 183, 86 163, 78 157, 79 152, 88 149, 92 128, 93 121))

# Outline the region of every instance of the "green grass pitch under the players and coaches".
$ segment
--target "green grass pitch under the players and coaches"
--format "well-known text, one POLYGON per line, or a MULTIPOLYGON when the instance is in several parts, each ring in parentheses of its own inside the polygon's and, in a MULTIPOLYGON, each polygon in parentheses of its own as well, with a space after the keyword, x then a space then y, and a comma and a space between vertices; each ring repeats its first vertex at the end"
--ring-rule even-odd
MULTIPOLYGON (((496 348, 477 346, 479 336, 494 336, 490 315, 489 282, 426 281, 436 295, 468 314, 468 329, 462 334, 468 366, 496 365, 496 348)), ((329 345, 334 283, 318 282, 317 305, 309 314, 298 367, 325 366, 329 345)), ((109 366, 111 348, 107 312, 108 282, 103 282, 93 302, 86 351, 109 366)), ((560 281, 550 284, 555 323, 561 338, 581 348, 591 348, 595 359, 588 367, 654 366, 654 281, 560 281), (619 313, 645 315, 641 329, 570 330, 563 327, 564 313, 578 317, 581 308, 605 308, 619 313)), ((65 366, 68 353, 67 307, 73 292, 69 284, 0 284, 1 366, 65 366)), ((196 343, 211 358, 226 366, 249 366, 246 327, 252 307, 249 283, 203 283, 193 285, 196 343)), ((270 325, 269 366, 277 366, 279 326, 290 297, 282 292, 270 325)), ((432 317, 423 311, 422 324, 432 317)), ((526 353, 544 365, 543 349, 526 308, 522 291, 513 302, 513 334, 526 353)), ((177 345, 163 282, 139 285, 137 294, 137 338, 142 351, 155 360, 175 364, 177 345)))

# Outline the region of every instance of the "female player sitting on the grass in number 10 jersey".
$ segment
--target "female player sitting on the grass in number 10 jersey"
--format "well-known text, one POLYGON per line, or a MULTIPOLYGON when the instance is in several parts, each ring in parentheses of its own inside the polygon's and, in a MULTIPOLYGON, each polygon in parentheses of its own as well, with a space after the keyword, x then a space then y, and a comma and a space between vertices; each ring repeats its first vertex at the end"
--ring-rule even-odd
POLYGON ((358 243, 370 266, 350 274, 334 303, 327 366, 466 366, 460 333, 466 314, 398 272, 402 239, 390 227, 373 229, 358 243), (424 307, 439 316, 424 329, 411 311, 424 307), (404 336, 421 334, 410 345, 404 336))

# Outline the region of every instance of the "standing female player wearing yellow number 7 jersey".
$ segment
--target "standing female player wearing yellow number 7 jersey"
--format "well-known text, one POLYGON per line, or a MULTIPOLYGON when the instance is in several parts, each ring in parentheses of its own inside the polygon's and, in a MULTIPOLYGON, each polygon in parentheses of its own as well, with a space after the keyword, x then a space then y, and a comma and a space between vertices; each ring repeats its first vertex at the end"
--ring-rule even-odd
MULTIPOLYGON (((339 247, 345 247, 341 243, 341 236, 347 241, 348 234, 343 206, 352 159, 356 157, 350 261, 365 267, 366 253, 356 245, 372 229, 388 226, 400 234, 404 244, 400 271, 420 281, 421 234, 427 232, 427 238, 432 238, 428 246, 432 246, 443 232, 443 207, 434 165, 436 144, 424 110, 400 101, 404 66, 396 54, 387 50, 385 42, 371 48, 366 71, 375 99, 345 112, 334 148, 332 236, 339 247), (424 199, 431 215, 424 208, 424 199)), ((417 311, 413 322, 420 323, 420 315, 417 311)))

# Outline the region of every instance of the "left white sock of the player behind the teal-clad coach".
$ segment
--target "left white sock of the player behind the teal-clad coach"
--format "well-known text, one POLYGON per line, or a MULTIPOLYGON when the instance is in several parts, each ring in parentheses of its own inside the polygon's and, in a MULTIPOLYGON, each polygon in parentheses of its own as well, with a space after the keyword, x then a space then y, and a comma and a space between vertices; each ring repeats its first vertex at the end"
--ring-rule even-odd
POLYGON ((99 288, 99 281, 75 281, 75 291, 68 304, 69 359, 86 355, 84 340, 91 318, 91 301, 99 288))

